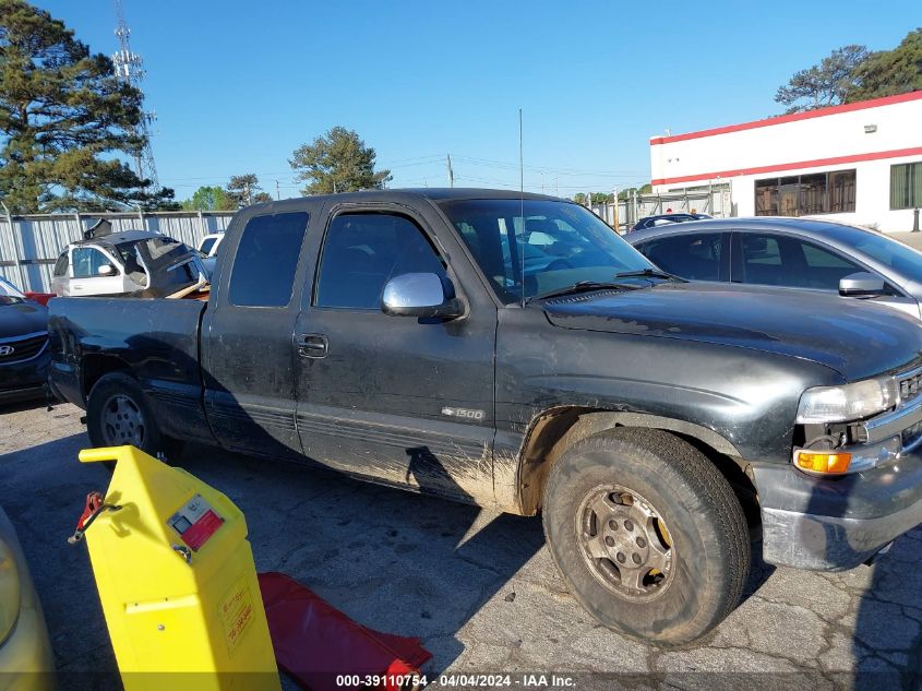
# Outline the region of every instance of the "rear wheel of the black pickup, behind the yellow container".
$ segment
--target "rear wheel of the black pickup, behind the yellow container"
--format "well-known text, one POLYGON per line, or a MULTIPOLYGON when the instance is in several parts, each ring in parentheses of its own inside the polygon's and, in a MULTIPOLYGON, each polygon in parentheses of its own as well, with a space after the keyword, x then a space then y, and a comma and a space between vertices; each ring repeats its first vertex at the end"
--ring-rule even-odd
POLYGON ((137 381, 122 372, 105 374, 93 385, 86 402, 86 432, 93 446, 131 444, 152 456, 178 454, 181 449, 179 440, 160 431, 137 381))

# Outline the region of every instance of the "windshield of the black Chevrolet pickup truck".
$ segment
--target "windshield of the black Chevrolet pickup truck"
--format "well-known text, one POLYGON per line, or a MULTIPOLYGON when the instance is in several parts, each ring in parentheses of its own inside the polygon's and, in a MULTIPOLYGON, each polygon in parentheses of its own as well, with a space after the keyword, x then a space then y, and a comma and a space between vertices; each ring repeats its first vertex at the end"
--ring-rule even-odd
POLYGON ((610 226, 577 204, 525 200, 523 209, 517 199, 481 199, 440 206, 506 303, 654 267, 610 226))

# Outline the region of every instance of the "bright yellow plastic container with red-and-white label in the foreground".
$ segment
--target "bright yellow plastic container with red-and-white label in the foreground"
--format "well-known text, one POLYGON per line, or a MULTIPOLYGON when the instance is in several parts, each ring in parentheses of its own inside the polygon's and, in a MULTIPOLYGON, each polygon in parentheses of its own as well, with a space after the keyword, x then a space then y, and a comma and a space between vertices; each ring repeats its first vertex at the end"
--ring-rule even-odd
POLYGON ((189 473, 134 446, 116 461, 86 532, 122 682, 135 689, 279 689, 253 552, 240 510, 189 473))

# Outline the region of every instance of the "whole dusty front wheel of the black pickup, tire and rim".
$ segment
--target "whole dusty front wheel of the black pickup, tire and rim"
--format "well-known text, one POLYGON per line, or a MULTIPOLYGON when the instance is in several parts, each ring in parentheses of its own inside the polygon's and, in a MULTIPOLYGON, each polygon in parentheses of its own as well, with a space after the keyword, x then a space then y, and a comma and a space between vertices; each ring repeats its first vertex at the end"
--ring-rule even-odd
POLYGON ((567 449, 544 488, 544 534, 579 604, 608 628, 690 643, 739 604, 750 569, 732 488, 661 430, 609 430, 567 449))

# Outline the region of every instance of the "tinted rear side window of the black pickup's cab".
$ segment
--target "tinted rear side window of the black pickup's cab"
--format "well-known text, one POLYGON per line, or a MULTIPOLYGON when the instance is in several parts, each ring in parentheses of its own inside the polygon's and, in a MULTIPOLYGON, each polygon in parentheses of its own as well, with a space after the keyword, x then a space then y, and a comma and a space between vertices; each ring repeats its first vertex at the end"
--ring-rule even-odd
POLYGON ((230 272, 231 305, 285 307, 291 301, 308 219, 308 212, 299 211, 247 222, 230 272))

